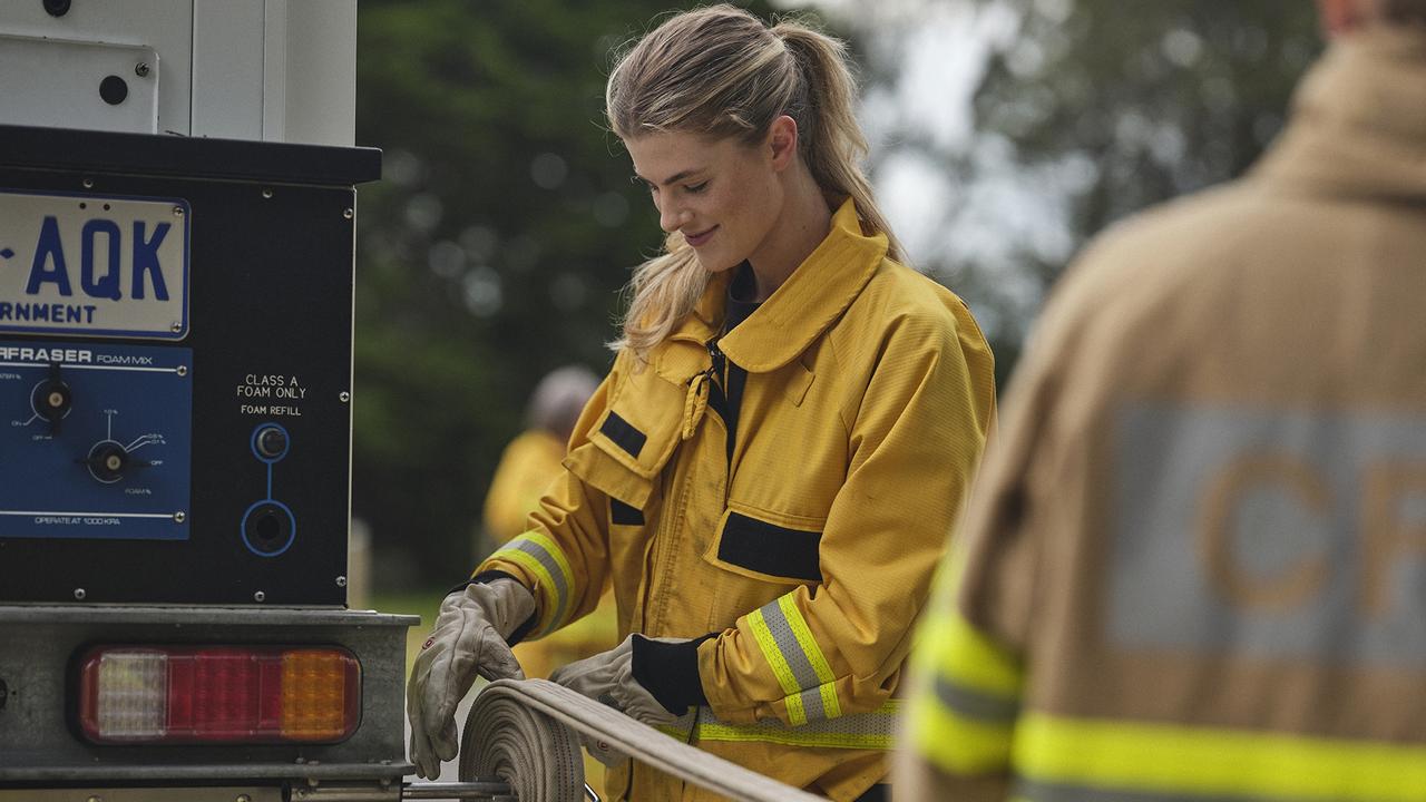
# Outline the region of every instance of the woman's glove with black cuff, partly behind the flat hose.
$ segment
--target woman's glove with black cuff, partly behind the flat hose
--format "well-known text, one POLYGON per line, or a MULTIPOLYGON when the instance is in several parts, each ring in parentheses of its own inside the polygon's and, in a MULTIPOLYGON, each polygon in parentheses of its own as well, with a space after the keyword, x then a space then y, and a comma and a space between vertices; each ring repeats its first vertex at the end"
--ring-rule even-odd
MULTIPOLYGON (((629 635, 613 649, 572 662, 549 678, 650 726, 669 725, 687 708, 707 702, 699 681, 699 644, 707 638, 712 635, 694 639, 629 635)), ((609 748, 580 741, 605 765, 623 759, 609 748)))

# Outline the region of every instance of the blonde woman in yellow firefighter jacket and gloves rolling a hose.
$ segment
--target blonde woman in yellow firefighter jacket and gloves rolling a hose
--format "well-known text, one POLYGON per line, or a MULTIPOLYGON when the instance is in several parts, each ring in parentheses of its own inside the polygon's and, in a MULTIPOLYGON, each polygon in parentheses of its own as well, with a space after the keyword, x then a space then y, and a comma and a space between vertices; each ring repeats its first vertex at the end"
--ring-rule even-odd
MULTIPOLYGON (((615 67, 607 114, 665 254, 528 531, 448 597, 408 689, 412 761, 505 642, 593 608, 617 648, 553 679, 838 802, 886 799, 911 622, 994 415, 968 310, 904 267, 858 160, 844 46, 716 6, 615 67)), ((600 749, 615 799, 706 799, 600 749)))

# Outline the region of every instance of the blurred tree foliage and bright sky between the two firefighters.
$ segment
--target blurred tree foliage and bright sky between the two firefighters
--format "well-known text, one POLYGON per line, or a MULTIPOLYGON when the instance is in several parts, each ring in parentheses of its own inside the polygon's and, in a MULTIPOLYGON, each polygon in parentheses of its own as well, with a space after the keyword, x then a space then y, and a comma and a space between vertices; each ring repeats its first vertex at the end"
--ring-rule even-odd
POLYGON ((844 14, 870 40, 877 183, 887 194, 915 178, 913 257, 985 324, 1002 381, 1074 251, 1145 205, 1239 176, 1322 47, 1299 0, 844 14))

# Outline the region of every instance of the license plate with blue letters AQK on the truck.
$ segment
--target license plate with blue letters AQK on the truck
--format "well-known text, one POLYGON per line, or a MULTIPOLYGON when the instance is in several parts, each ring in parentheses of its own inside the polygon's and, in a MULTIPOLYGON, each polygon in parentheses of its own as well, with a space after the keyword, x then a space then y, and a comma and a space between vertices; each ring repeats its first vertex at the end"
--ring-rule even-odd
POLYGON ((188 203, 0 191, 0 333, 181 340, 188 203))

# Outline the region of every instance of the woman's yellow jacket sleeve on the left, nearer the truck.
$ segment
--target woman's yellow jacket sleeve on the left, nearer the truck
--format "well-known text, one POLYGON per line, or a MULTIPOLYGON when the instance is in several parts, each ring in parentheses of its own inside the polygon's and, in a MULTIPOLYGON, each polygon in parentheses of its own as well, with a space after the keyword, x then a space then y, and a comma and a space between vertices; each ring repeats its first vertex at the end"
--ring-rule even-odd
MULTIPOLYGON (((570 450, 589 440, 619 381, 623 357, 585 405, 570 435, 570 450)), ((592 612, 609 569, 609 499, 569 469, 562 469, 525 522, 525 531, 496 549, 475 575, 499 571, 535 594, 530 638, 545 636, 592 612)))

